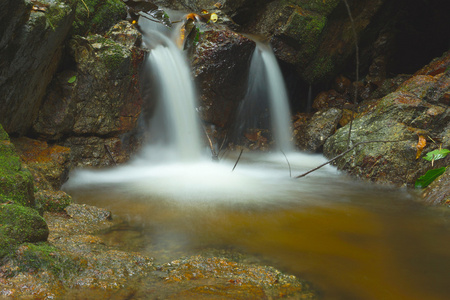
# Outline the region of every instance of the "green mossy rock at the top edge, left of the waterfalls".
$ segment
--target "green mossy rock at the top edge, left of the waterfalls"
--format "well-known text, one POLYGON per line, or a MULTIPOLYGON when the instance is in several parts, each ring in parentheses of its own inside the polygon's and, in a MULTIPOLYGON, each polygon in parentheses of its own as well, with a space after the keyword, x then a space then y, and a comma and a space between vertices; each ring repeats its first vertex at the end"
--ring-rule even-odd
POLYGON ((73 34, 104 33, 126 18, 126 5, 121 0, 84 0, 78 4, 73 34), (88 11, 89 9, 89 11, 88 11))

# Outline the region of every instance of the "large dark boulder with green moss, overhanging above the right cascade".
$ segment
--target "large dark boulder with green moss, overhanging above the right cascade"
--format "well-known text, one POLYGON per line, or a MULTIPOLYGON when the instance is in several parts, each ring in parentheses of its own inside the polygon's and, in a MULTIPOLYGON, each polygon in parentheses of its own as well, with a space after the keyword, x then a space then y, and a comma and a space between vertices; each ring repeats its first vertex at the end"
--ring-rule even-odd
MULTIPOLYGON (((361 35, 384 0, 349 2, 354 28, 361 35)), ((352 25, 340 0, 272 1, 246 27, 269 38, 277 57, 309 83, 329 79, 354 54, 352 25)))

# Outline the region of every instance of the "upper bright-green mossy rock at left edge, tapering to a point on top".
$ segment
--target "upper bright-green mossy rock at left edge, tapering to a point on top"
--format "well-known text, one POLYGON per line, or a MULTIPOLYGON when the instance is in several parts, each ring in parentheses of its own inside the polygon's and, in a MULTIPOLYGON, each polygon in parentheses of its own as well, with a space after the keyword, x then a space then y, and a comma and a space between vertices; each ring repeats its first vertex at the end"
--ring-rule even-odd
POLYGON ((12 201, 34 207, 33 177, 22 168, 8 134, 0 125, 0 203, 12 201))

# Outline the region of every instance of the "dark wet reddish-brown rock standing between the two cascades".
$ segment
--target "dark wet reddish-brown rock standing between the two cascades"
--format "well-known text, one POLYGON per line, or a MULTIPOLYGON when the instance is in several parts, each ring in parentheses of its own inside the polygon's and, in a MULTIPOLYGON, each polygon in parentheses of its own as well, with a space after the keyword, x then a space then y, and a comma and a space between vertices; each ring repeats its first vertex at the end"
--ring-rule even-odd
POLYGON ((209 29, 200 34, 192 69, 200 91, 201 118, 226 126, 245 96, 255 42, 231 30, 209 29))

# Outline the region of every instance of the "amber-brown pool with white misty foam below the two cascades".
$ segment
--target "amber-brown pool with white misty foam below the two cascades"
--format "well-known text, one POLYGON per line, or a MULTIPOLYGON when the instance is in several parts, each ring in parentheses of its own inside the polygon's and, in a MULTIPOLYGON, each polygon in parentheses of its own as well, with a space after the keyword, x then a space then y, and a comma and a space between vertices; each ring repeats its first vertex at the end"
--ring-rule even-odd
POLYGON ((65 189, 75 202, 127 220, 103 239, 155 263, 223 249, 308 280, 322 299, 447 299, 447 209, 330 166, 290 178, 323 162, 319 155, 244 153, 231 172, 236 158, 161 165, 138 159, 78 171, 65 189))

